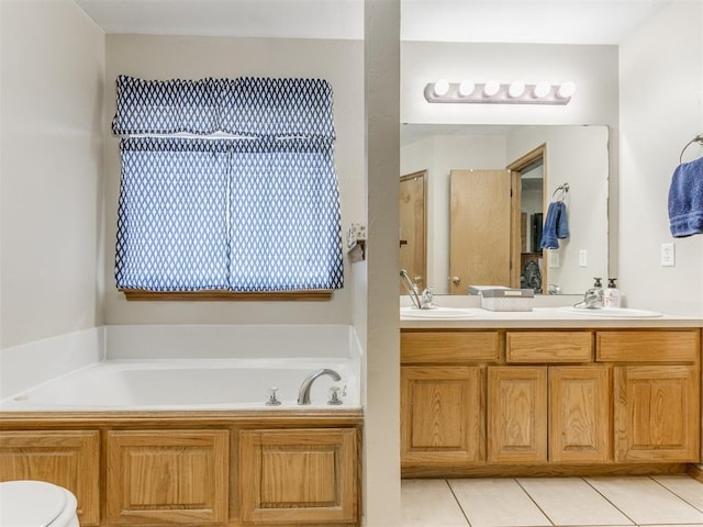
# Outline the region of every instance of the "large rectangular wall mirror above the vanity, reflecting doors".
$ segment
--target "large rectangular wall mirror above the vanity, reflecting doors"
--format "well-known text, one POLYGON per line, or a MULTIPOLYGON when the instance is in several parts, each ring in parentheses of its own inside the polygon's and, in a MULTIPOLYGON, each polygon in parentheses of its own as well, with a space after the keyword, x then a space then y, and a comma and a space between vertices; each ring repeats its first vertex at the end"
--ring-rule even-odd
POLYGON ((535 274, 538 293, 583 293, 607 278, 607 137, 606 126, 401 125, 401 265, 436 294, 531 287, 535 274), (568 236, 542 249, 557 201, 568 236))

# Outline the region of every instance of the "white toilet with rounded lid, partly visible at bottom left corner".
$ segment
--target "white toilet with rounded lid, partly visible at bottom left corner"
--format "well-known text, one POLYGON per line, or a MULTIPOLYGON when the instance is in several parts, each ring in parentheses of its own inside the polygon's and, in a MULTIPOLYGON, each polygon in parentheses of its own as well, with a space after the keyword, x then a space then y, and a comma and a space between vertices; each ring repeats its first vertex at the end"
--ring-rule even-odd
POLYGON ((76 496, 45 481, 0 483, 1 527, 79 527, 76 496))

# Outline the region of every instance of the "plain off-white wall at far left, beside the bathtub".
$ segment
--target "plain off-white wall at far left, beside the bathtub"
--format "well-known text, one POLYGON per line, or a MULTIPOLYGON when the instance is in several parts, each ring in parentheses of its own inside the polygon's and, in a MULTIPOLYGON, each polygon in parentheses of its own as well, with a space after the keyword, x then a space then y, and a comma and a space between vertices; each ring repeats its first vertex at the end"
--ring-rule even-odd
POLYGON ((103 322, 104 35, 71 0, 3 0, 0 10, 0 347, 8 348, 103 322))

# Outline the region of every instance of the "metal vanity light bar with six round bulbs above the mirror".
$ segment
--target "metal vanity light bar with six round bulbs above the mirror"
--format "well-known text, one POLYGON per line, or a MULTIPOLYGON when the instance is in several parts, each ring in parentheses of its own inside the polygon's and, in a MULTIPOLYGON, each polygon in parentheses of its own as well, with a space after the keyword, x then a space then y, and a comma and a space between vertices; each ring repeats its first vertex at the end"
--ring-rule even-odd
POLYGON ((460 82, 439 79, 425 86, 427 102, 473 104, 568 104, 574 92, 576 85, 571 81, 560 85, 526 85, 520 80, 511 83, 501 83, 498 80, 475 83, 469 79, 460 82))

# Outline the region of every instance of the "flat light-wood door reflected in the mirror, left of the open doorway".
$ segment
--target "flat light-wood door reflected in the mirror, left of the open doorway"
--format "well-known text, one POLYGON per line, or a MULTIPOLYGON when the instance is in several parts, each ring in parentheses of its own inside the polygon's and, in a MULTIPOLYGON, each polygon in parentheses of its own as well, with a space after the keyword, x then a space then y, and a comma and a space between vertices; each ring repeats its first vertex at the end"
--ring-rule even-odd
POLYGON ((511 269, 515 240, 515 202, 510 170, 451 170, 449 292, 469 285, 517 287, 511 269))

